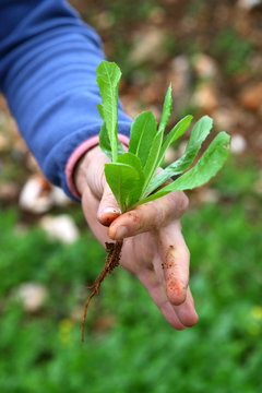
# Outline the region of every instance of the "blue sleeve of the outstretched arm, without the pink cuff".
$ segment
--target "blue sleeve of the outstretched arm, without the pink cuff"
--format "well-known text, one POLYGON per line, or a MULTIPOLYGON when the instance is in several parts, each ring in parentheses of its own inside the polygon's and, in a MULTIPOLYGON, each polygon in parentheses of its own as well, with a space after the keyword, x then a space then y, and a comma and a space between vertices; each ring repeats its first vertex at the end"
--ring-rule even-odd
MULTIPOLYGON (((0 88, 45 176, 68 188, 74 150, 98 134, 97 34, 63 0, 0 0, 0 88)), ((119 129, 131 120, 119 109, 119 129)))

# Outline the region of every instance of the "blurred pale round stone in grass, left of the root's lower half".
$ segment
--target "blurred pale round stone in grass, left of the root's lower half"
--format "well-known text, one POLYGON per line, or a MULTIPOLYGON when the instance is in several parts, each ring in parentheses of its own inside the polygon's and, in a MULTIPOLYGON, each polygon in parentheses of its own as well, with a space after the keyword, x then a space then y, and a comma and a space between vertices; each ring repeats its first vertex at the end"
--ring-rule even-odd
POLYGON ((46 287, 38 283, 23 283, 15 295, 26 312, 39 311, 48 297, 46 287))

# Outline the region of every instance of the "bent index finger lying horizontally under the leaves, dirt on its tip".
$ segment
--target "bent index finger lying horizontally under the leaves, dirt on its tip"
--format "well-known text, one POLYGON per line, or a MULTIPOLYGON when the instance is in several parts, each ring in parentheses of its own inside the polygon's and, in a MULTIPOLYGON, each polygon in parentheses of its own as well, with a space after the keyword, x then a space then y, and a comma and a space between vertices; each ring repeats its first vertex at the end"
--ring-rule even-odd
POLYGON ((160 228, 180 217, 187 206, 188 199, 183 192, 170 192, 122 214, 110 225, 108 235, 111 239, 120 240, 160 228))

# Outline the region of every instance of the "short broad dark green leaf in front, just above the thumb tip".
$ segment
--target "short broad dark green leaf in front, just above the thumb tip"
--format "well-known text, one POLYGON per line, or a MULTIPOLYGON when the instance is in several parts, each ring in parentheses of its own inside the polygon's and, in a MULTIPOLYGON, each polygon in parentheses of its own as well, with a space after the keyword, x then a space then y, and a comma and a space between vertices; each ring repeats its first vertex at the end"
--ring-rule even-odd
MULTIPOLYGON (((127 158, 127 162, 131 163, 130 157, 127 158)), ((135 166, 123 163, 109 163, 105 165, 105 176, 122 213, 139 201, 142 193, 143 178, 141 178, 141 171, 135 166)))

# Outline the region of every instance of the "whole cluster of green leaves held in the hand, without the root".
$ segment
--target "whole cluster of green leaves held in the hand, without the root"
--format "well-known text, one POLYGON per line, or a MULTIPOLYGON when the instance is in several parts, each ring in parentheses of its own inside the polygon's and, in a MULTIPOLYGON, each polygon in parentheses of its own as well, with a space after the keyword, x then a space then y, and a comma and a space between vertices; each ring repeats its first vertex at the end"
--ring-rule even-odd
POLYGON ((189 169, 212 129, 213 121, 209 116, 202 117, 194 124, 184 154, 156 175, 167 148, 187 131, 192 120, 192 116, 186 116, 165 136, 172 106, 171 85, 166 93, 158 127, 152 111, 140 114, 132 123, 129 151, 124 153, 117 134, 120 78, 121 71, 114 62, 102 61, 97 68, 97 83, 102 96, 98 110, 104 120, 99 145, 111 160, 105 165, 105 175, 121 212, 175 190, 200 187, 214 177, 223 167, 229 152, 230 136, 226 132, 219 132, 196 164, 189 169), (174 176, 179 177, 162 187, 174 176))

